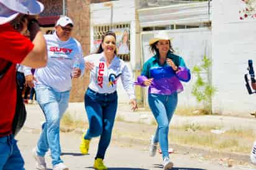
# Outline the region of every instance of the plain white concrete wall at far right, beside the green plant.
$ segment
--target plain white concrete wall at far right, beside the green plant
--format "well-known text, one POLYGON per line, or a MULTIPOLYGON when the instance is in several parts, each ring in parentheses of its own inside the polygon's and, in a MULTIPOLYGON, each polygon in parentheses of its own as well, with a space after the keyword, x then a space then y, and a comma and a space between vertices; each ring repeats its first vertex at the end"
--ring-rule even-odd
POLYGON ((256 68, 256 19, 239 19, 242 1, 213 1, 213 111, 245 115, 256 110, 256 94, 249 96, 244 74, 249 59, 256 68))

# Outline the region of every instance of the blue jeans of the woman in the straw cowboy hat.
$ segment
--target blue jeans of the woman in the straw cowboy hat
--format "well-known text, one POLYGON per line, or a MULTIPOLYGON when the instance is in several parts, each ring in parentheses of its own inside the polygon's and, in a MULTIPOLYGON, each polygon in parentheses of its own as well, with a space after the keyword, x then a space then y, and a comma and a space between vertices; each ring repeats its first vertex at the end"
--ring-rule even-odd
POLYGON ((171 95, 149 94, 149 107, 157 120, 154 143, 160 142, 163 158, 168 157, 168 132, 173 112, 178 103, 177 93, 171 95))

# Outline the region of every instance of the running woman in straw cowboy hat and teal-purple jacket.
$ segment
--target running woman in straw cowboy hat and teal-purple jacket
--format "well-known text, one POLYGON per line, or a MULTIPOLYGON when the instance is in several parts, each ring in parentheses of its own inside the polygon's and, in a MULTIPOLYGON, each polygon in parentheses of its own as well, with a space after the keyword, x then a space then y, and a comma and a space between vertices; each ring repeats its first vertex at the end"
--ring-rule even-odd
POLYGON ((136 84, 149 86, 149 106, 158 124, 151 139, 150 156, 155 156, 159 142, 166 170, 173 167, 168 154, 169 123, 176 109, 178 92, 183 91, 180 81, 190 81, 190 69, 186 68, 183 58, 173 54, 165 32, 159 32, 149 45, 155 55, 145 62, 136 84))

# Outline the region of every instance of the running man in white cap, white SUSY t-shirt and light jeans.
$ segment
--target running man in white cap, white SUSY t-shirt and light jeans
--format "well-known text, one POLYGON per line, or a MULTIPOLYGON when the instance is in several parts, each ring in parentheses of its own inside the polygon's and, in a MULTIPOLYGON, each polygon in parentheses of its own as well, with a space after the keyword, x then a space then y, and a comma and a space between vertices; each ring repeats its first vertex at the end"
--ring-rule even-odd
POLYGON ((49 148, 53 170, 68 169, 60 159, 60 119, 68 108, 71 79, 79 78, 85 69, 81 45, 70 37, 73 25, 70 18, 61 17, 55 25, 55 33, 45 35, 48 63, 34 74, 37 102, 46 120, 34 150, 37 169, 47 169, 44 156, 49 148))

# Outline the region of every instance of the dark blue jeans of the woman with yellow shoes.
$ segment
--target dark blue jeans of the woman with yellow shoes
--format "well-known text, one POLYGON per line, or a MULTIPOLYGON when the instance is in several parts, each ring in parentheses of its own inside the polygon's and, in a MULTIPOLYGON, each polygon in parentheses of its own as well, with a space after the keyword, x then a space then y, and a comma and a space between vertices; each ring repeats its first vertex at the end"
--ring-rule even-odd
POLYGON ((104 159, 116 117, 117 92, 99 94, 88 89, 85 94, 85 110, 88 115, 89 129, 84 138, 91 140, 93 137, 101 136, 96 158, 104 159))

